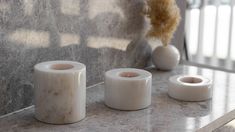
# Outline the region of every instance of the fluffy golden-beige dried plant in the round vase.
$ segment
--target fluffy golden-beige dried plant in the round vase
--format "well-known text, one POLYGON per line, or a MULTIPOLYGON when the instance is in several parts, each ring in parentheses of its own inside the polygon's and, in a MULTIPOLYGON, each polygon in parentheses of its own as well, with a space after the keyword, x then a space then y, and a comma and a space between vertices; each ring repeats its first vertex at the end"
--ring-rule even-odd
POLYGON ((147 36, 160 39, 167 46, 176 31, 181 16, 175 0, 147 0, 144 14, 150 19, 147 36))

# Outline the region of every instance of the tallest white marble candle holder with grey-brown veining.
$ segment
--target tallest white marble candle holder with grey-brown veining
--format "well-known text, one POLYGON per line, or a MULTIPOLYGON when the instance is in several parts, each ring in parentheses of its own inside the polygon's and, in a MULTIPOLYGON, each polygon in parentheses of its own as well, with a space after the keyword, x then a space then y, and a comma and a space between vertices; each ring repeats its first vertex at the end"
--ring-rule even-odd
POLYGON ((49 61, 34 66, 35 116, 52 124, 82 120, 86 114, 86 66, 49 61))

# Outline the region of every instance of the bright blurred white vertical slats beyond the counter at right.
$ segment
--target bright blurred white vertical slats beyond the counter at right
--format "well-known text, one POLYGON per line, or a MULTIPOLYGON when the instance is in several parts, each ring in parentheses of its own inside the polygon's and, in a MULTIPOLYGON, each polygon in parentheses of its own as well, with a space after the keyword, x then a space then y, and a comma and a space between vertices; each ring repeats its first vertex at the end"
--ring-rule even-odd
POLYGON ((185 63, 235 72, 235 0, 187 0, 185 63))

